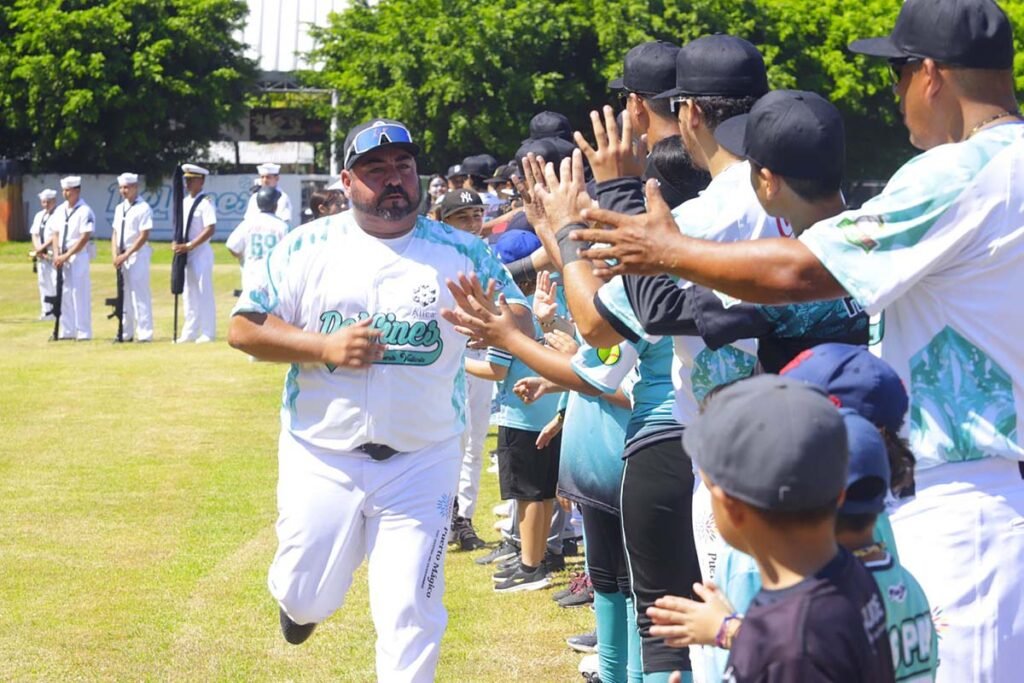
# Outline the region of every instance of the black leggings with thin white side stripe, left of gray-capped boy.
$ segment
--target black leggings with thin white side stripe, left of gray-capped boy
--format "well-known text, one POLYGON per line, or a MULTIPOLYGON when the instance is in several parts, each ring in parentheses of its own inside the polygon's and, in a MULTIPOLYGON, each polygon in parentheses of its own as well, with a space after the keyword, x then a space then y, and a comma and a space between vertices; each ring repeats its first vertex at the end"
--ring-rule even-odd
POLYGON ((693 470, 678 436, 645 444, 627 459, 620 509, 645 674, 691 670, 689 650, 650 635, 647 607, 664 595, 692 598, 700 581, 692 500, 693 470))

